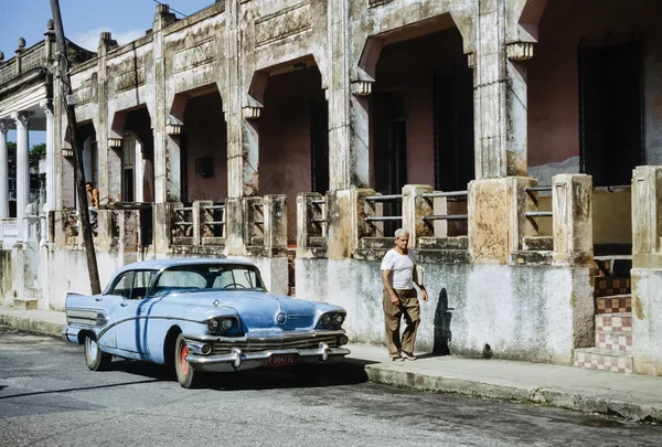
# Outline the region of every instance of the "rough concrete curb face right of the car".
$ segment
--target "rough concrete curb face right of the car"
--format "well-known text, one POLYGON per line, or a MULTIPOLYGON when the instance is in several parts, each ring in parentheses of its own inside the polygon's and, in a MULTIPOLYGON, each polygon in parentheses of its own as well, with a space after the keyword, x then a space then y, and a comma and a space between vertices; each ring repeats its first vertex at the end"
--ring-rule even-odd
POLYGON ((462 379, 449 379, 407 371, 394 371, 382 365, 366 365, 365 372, 371 382, 389 386, 533 403, 584 413, 599 413, 637 422, 662 422, 662 404, 637 404, 553 389, 520 387, 462 379))

